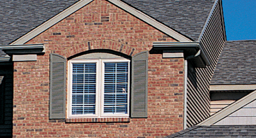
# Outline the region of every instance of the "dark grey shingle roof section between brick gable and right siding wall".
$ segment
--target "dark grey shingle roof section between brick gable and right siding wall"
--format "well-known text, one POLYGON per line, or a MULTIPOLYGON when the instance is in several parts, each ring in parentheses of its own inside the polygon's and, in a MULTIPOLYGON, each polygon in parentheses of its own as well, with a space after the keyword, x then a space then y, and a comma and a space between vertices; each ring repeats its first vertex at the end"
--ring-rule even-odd
POLYGON ((197 41, 216 0, 123 0, 197 41))

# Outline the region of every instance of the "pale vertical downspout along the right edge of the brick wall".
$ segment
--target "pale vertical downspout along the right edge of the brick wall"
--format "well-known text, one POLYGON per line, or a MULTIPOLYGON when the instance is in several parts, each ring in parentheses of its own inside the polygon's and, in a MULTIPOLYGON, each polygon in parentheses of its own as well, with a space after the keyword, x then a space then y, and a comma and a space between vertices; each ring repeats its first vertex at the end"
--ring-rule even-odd
POLYGON ((183 130, 187 128, 187 81, 188 80, 188 62, 184 60, 184 117, 183 130))

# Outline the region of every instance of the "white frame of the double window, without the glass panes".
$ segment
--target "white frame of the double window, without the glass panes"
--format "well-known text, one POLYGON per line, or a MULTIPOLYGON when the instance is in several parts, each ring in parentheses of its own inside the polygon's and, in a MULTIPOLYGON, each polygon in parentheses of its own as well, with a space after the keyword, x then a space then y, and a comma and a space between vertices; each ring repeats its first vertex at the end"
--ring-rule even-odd
POLYGON ((109 118, 129 117, 130 114, 130 60, 125 58, 116 59, 71 59, 68 61, 68 94, 67 116, 68 118, 109 118), (127 114, 104 114, 104 63, 128 62, 128 88, 127 88, 127 114), (72 114, 72 69, 73 63, 96 63, 96 104, 95 114, 72 114))

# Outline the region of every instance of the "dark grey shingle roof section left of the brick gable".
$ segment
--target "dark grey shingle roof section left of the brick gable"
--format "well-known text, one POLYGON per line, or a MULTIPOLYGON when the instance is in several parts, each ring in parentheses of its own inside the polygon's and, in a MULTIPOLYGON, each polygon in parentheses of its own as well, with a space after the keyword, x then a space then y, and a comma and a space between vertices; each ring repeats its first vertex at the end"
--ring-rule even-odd
POLYGON ((10 44, 79 0, 1 0, 0 45, 10 44))

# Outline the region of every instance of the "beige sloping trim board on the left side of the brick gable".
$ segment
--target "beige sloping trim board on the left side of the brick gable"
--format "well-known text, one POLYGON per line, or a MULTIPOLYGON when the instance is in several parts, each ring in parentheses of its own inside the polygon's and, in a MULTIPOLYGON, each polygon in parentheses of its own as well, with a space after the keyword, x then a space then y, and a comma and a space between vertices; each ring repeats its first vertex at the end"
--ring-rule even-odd
POLYGON ((52 17, 51 19, 47 20, 42 25, 39 25, 35 29, 31 30, 27 34, 25 34, 22 37, 20 37, 19 39, 17 39, 16 41, 12 42, 11 45, 24 44, 24 43, 28 42, 30 39, 34 38, 35 36, 39 35, 40 33, 44 32, 45 30, 49 29, 53 25, 57 24, 58 22, 60 22, 64 18, 66 18, 67 16, 71 15, 72 13, 76 12, 78 9, 84 7, 85 5, 87 5, 88 3, 92 2, 92 1, 93 0, 80 0, 77 3, 74 3, 66 10, 63 10, 61 13, 59 13, 59 14, 55 15, 54 17, 52 17))

